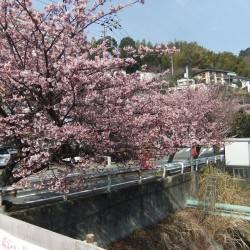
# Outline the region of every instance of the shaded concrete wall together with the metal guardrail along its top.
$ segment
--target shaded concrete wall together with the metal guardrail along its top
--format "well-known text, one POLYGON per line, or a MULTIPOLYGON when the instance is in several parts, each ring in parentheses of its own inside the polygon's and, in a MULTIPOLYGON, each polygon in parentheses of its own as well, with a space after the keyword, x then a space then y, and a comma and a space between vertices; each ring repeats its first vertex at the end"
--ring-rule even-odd
POLYGON ((86 189, 67 195, 6 187, 1 192, 2 211, 7 205, 7 215, 75 239, 93 233, 105 246, 184 208, 196 194, 197 171, 223 160, 224 155, 215 155, 148 170, 89 170, 84 173, 86 189))

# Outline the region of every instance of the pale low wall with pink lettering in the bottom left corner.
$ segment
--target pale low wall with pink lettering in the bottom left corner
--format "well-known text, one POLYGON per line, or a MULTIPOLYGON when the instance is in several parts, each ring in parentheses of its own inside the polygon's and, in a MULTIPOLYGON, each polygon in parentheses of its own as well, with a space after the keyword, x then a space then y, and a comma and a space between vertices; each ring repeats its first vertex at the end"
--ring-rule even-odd
POLYGON ((0 249, 101 250, 97 246, 0 214, 0 249))

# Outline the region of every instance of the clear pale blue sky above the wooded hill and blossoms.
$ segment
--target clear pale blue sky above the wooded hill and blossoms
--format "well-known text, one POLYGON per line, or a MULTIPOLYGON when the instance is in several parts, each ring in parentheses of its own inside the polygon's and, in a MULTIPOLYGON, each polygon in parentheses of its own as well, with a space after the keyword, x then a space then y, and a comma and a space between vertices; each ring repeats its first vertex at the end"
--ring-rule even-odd
MULTIPOLYGON (((42 2, 49 1, 33 0, 34 7, 42 10, 42 2)), ((250 0, 145 0, 144 5, 122 10, 115 20, 121 29, 106 29, 106 35, 118 43, 126 36, 152 44, 197 42, 214 52, 235 55, 250 47, 250 0)), ((90 36, 102 35, 102 26, 91 28, 90 36)))

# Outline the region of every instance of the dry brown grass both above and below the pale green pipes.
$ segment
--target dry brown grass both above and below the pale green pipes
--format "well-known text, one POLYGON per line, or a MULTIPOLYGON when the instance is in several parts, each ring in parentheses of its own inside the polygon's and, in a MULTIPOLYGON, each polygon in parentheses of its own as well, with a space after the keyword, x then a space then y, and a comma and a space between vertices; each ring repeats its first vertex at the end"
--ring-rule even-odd
MULTIPOLYGON (((249 192, 250 185, 241 186, 242 183, 214 166, 206 168, 199 178, 201 200, 207 199, 211 180, 215 180, 214 202, 247 204, 242 190, 249 192)), ((249 221, 214 216, 198 208, 186 208, 153 226, 136 230, 124 240, 110 244, 107 250, 249 250, 249 246, 249 221)))

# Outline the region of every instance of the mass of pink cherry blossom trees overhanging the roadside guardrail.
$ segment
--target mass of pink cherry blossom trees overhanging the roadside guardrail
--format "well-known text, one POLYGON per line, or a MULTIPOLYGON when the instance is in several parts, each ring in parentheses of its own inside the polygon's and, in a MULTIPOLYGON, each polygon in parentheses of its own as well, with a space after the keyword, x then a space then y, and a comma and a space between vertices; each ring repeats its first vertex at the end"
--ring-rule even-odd
MULTIPOLYGON (((159 80, 121 70, 135 63, 133 56, 151 53, 149 48, 127 48, 131 58, 122 59, 105 42, 92 46, 90 25, 144 3, 110 1, 104 8, 106 2, 64 0, 39 12, 30 0, 1 1, 0 138, 13 142, 18 154, 2 172, 0 185, 31 174, 44 183, 43 173, 53 165, 61 174, 47 183, 67 192, 81 186, 79 176, 65 186, 72 169, 103 164, 105 156, 140 161, 144 155, 223 140, 229 109, 215 88, 161 94, 159 80), (76 155, 82 163, 63 161, 76 155)), ((176 51, 157 48, 159 54, 176 51)))

